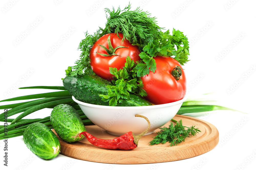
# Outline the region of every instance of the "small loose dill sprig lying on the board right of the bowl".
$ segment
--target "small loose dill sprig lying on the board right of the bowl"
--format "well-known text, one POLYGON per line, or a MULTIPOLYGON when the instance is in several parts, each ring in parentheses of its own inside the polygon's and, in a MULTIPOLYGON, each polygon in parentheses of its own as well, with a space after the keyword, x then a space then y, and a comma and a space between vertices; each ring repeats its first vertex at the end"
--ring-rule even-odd
POLYGON ((182 141, 185 141, 186 137, 192 135, 195 136, 196 133, 201 132, 198 128, 195 128, 195 126, 183 126, 182 120, 178 122, 172 119, 172 121, 175 122, 176 125, 173 125, 173 123, 170 122, 169 127, 160 127, 160 131, 157 132, 157 135, 154 137, 154 139, 149 142, 150 145, 155 145, 159 143, 164 144, 166 142, 169 142, 170 146, 175 146, 182 141))

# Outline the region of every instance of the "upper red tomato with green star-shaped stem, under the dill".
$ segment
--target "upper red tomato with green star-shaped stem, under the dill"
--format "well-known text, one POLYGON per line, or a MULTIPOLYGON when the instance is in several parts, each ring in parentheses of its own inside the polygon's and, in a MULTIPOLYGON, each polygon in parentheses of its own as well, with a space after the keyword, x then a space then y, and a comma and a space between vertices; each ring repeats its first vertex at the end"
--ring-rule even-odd
POLYGON ((127 40, 122 42, 123 34, 118 33, 118 35, 120 38, 114 33, 103 35, 98 41, 95 42, 90 51, 90 65, 92 67, 92 71, 99 77, 106 80, 113 80, 113 75, 110 74, 109 68, 113 67, 117 68, 118 70, 122 69, 124 67, 124 63, 126 62, 127 56, 134 61, 140 60, 140 49, 138 46, 132 45, 127 40), (113 51, 110 51, 111 54, 108 54, 102 46, 106 47, 106 49, 111 48, 109 47, 108 43, 109 36, 111 45, 113 47, 112 50, 118 46, 124 46, 127 48, 118 48, 114 51, 114 53, 112 53, 113 51), (102 54, 108 56, 103 56, 102 54))

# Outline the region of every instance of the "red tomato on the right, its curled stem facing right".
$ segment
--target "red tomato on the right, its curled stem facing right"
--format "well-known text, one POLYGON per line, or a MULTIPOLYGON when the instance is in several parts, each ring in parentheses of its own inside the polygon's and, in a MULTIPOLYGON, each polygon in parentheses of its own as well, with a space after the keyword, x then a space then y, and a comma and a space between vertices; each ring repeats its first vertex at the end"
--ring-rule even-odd
POLYGON ((156 71, 142 77, 145 97, 153 104, 165 104, 183 99, 186 94, 186 76, 184 70, 179 80, 172 75, 172 70, 181 65, 171 57, 156 56, 156 71))

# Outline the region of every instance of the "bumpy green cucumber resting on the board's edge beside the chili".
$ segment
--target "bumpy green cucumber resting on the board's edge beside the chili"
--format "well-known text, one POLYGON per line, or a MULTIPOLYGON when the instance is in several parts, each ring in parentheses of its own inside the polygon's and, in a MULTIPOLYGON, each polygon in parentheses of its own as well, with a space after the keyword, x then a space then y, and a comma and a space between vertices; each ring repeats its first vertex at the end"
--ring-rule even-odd
POLYGON ((55 106, 50 115, 51 125, 58 136, 66 142, 75 142, 82 140, 84 136, 79 137, 86 128, 76 111, 68 104, 59 104, 55 106))

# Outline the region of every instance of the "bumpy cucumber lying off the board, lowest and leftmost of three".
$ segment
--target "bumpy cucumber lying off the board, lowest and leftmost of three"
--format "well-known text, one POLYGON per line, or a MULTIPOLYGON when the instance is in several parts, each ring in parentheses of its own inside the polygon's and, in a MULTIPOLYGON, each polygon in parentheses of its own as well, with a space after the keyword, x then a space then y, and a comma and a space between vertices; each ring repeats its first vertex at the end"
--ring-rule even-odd
POLYGON ((53 159, 60 153, 58 137, 45 124, 30 124, 23 133, 23 140, 28 149, 40 158, 53 159))

